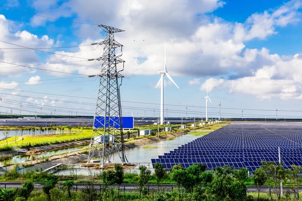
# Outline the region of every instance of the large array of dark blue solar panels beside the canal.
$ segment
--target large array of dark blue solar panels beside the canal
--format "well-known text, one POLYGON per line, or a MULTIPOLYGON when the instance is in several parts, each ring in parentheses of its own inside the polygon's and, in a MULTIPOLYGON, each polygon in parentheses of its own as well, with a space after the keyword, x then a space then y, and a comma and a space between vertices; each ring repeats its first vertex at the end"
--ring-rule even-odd
POLYGON ((152 163, 160 162, 165 168, 195 163, 207 168, 230 165, 253 171, 262 160, 279 161, 278 147, 284 168, 302 166, 302 124, 235 122, 152 159, 152 163))

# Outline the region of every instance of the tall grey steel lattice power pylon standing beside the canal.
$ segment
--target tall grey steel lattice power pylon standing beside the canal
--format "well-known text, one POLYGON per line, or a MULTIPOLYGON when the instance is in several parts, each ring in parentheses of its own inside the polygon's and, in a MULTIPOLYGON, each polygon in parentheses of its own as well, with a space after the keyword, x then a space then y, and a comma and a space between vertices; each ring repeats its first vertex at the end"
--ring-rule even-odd
POLYGON ((102 166, 110 161, 113 152, 117 152, 121 161, 126 162, 124 152, 122 109, 120 101, 120 86, 123 76, 120 71, 124 69, 124 62, 116 55, 116 48, 122 45, 114 40, 114 33, 124 30, 99 25, 105 31, 105 39, 99 43, 104 45, 103 56, 96 60, 103 61, 98 90, 96 113, 91 136, 88 163, 93 157, 99 158, 102 166), (122 63, 122 70, 117 70, 116 65, 122 63), (120 80, 120 82, 119 82, 120 80))

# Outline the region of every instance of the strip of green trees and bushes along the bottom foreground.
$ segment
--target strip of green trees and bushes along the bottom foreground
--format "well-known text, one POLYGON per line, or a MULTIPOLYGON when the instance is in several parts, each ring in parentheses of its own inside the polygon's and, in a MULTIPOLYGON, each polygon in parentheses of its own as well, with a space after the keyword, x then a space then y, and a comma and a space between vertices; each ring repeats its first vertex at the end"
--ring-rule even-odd
MULTIPOLYGON (((25 173, 16 171, 16 168, 6 172, 3 180, 23 178, 26 182, 18 189, 1 189, 0 200, 212 200, 212 201, 256 201, 256 200, 299 200, 298 187, 302 181, 302 168, 292 165, 291 169, 283 169, 282 164, 262 161, 260 168, 254 171, 253 181, 256 188, 248 189, 246 182, 250 180, 247 168, 235 169, 225 165, 216 167, 215 171, 206 171, 206 166, 194 164, 188 168, 175 165, 170 171, 163 168, 163 164, 154 164, 154 173, 145 166, 139 166, 139 173, 124 173, 120 165, 114 169, 103 170, 87 182, 84 189, 78 192, 74 189, 77 173, 70 174, 68 178, 54 174, 29 170, 25 173), (97 179, 97 180, 94 180, 97 179), (64 180, 63 188, 57 185, 59 180, 64 180), (284 190, 283 197, 280 196, 279 183, 283 181, 290 186, 284 190), (95 189, 93 182, 100 182, 101 188, 95 189), (135 182, 136 186, 128 186, 132 191, 126 192, 122 183, 135 182), (34 182, 45 182, 42 191, 34 191, 34 182), (157 188, 148 188, 147 183, 156 183, 157 188), (176 184, 174 189, 166 188, 161 183, 176 184), (116 184, 114 188, 111 185, 116 184), (268 185, 270 190, 263 190, 262 186, 268 185)), ((72 169, 70 169, 71 172, 72 169)), ((88 178, 86 176, 86 178, 88 178)), ((265 187, 267 188, 267 187, 265 187)))

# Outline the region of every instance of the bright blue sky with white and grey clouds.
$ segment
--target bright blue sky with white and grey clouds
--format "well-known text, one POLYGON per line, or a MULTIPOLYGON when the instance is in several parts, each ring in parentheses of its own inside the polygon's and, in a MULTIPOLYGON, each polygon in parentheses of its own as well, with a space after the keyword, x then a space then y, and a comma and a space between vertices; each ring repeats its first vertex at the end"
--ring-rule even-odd
POLYGON ((165 116, 204 118, 208 90, 209 118, 220 102, 222 118, 302 118, 301 12, 302 0, 3 0, 0 112, 93 116, 103 24, 125 30, 124 116, 159 115, 166 41, 180 88, 165 76, 165 116))

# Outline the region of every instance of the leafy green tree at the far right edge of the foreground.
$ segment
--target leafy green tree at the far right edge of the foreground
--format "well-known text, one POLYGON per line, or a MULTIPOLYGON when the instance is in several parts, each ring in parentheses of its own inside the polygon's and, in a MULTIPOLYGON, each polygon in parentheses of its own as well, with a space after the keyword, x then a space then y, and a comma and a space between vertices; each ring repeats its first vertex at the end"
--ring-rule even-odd
POLYGON ((299 186, 302 182, 302 167, 291 165, 292 169, 288 169, 288 179, 290 181, 290 187, 293 191, 294 199, 299 200, 299 186))

